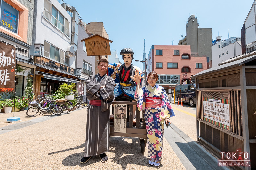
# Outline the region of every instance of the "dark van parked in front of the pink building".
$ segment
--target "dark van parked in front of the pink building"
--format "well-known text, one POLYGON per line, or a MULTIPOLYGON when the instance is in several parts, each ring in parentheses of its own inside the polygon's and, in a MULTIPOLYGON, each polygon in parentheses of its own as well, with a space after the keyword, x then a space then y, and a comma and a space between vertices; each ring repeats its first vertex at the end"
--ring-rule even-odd
POLYGON ((190 106, 195 107, 196 105, 196 85, 195 84, 185 84, 177 85, 175 87, 175 98, 181 102, 189 103, 190 106))

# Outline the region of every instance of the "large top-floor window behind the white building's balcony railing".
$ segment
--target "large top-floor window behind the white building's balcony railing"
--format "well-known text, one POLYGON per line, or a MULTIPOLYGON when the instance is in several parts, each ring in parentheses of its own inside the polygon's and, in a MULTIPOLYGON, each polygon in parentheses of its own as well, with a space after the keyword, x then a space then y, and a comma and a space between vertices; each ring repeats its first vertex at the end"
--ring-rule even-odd
POLYGON ((48 0, 44 0, 43 17, 70 38, 70 23, 48 0))

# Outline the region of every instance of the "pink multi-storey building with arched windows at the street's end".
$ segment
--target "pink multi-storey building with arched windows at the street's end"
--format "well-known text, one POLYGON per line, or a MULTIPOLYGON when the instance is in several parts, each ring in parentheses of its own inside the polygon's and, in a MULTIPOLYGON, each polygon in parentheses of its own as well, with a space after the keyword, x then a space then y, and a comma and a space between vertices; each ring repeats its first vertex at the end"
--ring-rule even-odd
POLYGON ((157 84, 171 93, 176 85, 184 82, 183 74, 187 73, 186 82, 195 83, 192 75, 207 69, 206 57, 193 57, 190 46, 152 45, 148 54, 147 74, 156 71, 157 84))

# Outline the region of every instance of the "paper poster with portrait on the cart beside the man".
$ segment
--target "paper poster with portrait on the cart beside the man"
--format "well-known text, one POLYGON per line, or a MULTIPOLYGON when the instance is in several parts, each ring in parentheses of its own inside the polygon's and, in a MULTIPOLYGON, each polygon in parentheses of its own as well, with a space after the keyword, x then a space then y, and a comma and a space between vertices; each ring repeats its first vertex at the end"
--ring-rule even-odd
POLYGON ((126 104, 114 105, 114 132, 126 133, 126 104))

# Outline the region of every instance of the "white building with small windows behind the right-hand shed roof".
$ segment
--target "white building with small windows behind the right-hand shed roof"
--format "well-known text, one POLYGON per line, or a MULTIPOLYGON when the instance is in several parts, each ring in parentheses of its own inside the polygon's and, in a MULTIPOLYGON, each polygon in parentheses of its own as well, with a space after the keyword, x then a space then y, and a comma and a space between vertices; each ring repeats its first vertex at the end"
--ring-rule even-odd
POLYGON ((218 36, 212 41, 212 67, 241 54, 241 38, 231 37, 224 40, 218 36))

